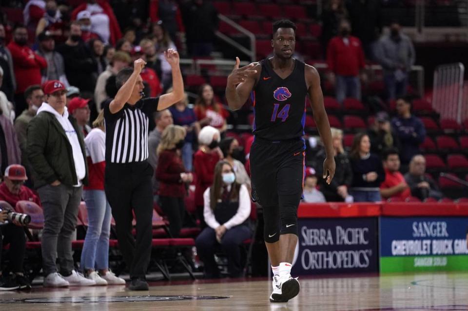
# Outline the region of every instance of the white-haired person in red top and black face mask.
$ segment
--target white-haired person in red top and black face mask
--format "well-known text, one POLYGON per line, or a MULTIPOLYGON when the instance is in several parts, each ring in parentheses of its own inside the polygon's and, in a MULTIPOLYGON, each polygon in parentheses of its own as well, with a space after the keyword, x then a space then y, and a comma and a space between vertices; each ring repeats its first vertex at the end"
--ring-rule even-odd
POLYGON ((203 217, 203 193, 213 184, 216 163, 223 158, 218 147, 220 138, 219 130, 210 126, 202 128, 198 134, 199 148, 194 154, 195 205, 202 228, 206 226, 203 217))

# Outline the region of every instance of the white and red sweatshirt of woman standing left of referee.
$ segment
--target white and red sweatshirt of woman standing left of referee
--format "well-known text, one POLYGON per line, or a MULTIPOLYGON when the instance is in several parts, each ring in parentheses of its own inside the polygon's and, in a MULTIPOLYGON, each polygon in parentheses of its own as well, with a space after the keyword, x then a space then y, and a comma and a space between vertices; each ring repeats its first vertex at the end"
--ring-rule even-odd
POLYGON ((93 128, 84 139, 88 162, 88 185, 85 190, 104 190, 104 170, 106 168, 106 133, 93 128))

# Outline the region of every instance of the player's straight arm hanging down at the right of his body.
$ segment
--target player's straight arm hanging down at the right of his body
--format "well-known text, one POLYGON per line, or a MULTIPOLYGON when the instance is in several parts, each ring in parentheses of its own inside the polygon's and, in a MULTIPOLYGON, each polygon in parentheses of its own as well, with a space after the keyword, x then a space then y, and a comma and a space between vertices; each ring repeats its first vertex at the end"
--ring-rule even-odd
POLYGON ((327 158, 323 162, 323 178, 327 178, 327 183, 330 184, 333 179, 333 175, 335 174, 335 160, 330 122, 328 121, 327 112, 323 105, 320 76, 317 70, 312 66, 306 65, 305 71, 308 93, 313 111, 313 119, 317 125, 323 144, 325 145, 325 151, 327 152, 327 158))

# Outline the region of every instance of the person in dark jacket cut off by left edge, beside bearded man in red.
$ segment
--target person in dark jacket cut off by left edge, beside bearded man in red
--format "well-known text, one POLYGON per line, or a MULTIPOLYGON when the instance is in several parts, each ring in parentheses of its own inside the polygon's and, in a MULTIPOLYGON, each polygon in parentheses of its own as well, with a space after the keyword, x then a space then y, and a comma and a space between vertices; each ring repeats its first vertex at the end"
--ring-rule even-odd
POLYGON ((4 92, 6 98, 12 102, 16 90, 15 72, 13 70, 13 57, 10 50, 5 46, 5 27, 0 24, 0 67, 3 70, 3 79, 0 91, 4 92))

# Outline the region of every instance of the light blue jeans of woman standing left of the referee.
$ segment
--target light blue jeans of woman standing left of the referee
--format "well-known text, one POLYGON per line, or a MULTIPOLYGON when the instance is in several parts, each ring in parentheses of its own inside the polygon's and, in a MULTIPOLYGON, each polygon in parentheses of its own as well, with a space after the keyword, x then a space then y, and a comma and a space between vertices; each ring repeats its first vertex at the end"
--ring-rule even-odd
POLYGON ((104 190, 84 190, 88 210, 88 231, 81 252, 81 270, 104 270, 109 267, 111 206, 104 190))

